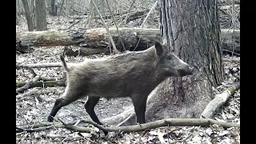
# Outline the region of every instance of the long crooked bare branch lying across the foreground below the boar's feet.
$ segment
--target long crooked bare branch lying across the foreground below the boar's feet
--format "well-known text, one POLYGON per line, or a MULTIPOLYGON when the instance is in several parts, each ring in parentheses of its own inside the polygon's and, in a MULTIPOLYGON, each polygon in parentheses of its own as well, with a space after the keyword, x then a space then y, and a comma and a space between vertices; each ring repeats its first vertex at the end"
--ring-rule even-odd
MULTIPOLYGON (((226 128, 233 127, 233 126, 240 127, 240 124, 237 124, 237 123, 218 122, 216 120, 209 119, 209 118, 206 118, 206 119, 202 119, 202 118, 169 118, 169 119, 159 120, 159 121, 155 121, 155 122, 147 122, 147 123, 134 125, 134 126, 119 126, 119 127, 117 127, 117 126, 105 127, 102 125, 98 125, 98 123, 96 123, 96 122, 86 120, 86 119, 82 119, 80 122, 89 123, 103 131, 108 131, 108 132, 123 131, 124 133, 144 131, 144 130, 154 129, 154 128, 158 128, 158 127, 162 127, 162 126, 210 126, 210 125, 218 124, 218 125, 226 127, 226 128)), ((16 130, 16 133, 19 133, 22 131, 34 132, 34 131, 41 131, 41 130, 49 130, 54 127, 58 127, 58 128, 65 127, 68 130, 74 130, 74 131, 86 132, 86 133, 90 133, 90 130, 92 130, 87 127, 73 126, 75 122, 70 122, 70 123, 66 123, 66 124, 63 124, 61 122, 48 122, 48 123, 42 124, 42 126, 44 126, 44 127, 38 127, 38 128, 34 128, 34 129, 33 128, 26 129, 26 128, 16 127, 16 128, 18 128, 16 130), (54 125, 49 126, 48 123, 53 123, 54 125)), ((39 125, 35 125, 33 127, 36 127, 36 126, 39 126, 39 125)))

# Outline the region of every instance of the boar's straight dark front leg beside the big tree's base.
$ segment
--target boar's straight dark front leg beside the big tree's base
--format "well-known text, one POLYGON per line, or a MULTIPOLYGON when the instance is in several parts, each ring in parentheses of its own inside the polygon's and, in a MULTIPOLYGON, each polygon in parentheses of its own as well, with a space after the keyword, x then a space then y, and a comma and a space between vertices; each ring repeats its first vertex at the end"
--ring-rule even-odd
MULTIPOLYGON (((138 96, 138 95, 137 95, 138 96)), ((139 97, 132 98, 134 102, 134 110, 137 116, 138 123, 145 123, 145 111, 146 111, 146 98, 137 99, 139 97)))

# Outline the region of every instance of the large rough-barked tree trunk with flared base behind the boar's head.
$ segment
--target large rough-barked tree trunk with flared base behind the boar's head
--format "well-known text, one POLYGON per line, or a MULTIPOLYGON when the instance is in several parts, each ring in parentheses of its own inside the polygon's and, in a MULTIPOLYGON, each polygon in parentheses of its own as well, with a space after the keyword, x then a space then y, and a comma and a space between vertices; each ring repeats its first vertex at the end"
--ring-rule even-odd
POLYGON ((169 78, 151 94, 146 117, 199 118, 223 81, 217 0, 158 0, 162 42, 194 67, 192 76, 169 78), (155 99, 155 100, 154 100, 155 99))

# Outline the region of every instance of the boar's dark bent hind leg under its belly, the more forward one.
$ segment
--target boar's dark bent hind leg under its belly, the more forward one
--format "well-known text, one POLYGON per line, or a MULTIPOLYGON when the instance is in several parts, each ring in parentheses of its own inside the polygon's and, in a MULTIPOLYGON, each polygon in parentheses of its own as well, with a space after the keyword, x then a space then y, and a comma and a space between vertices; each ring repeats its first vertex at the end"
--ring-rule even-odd
POLYGON ((94 112, 94 106, 98 103, 99 97, 88 97, 88 100, 85 104, 86 112, 90 115, 90 118, 94 122, 102 125, 102 122, 99 122, 97 115, 94 112))

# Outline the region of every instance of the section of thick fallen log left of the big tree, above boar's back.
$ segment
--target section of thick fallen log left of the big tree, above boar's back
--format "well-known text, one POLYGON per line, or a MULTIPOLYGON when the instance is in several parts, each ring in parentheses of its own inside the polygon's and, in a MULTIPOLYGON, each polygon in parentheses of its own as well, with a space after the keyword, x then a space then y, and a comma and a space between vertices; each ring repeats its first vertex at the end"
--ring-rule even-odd
MULTIPOLYGON (((141 45, 146 47, 148 42, 160 38, 158 29, 140 29, 140 28, 110 28, 110 34, 117 47, 122 47, 118 42, 118 30, 122 34, 126 50, 136 46, 140 37, 141 45), (158 34, 158 35, 156 35, 158 34), (147 38, 145 41, 144 38, 147 38), (143 43, 144 42, 144 43, 143 43)), ((98 29, 78 29, 61 31, 34 31, 16 33, 16 39, 19 39, 22 46, 85 46, 92 49, 105 49, 109 46, 109 37, 105 28, 98 29)), ((153 45, 154 42, 151 42, 153 45)), ((139 48, 139 46, 138 46, 139 48)))

